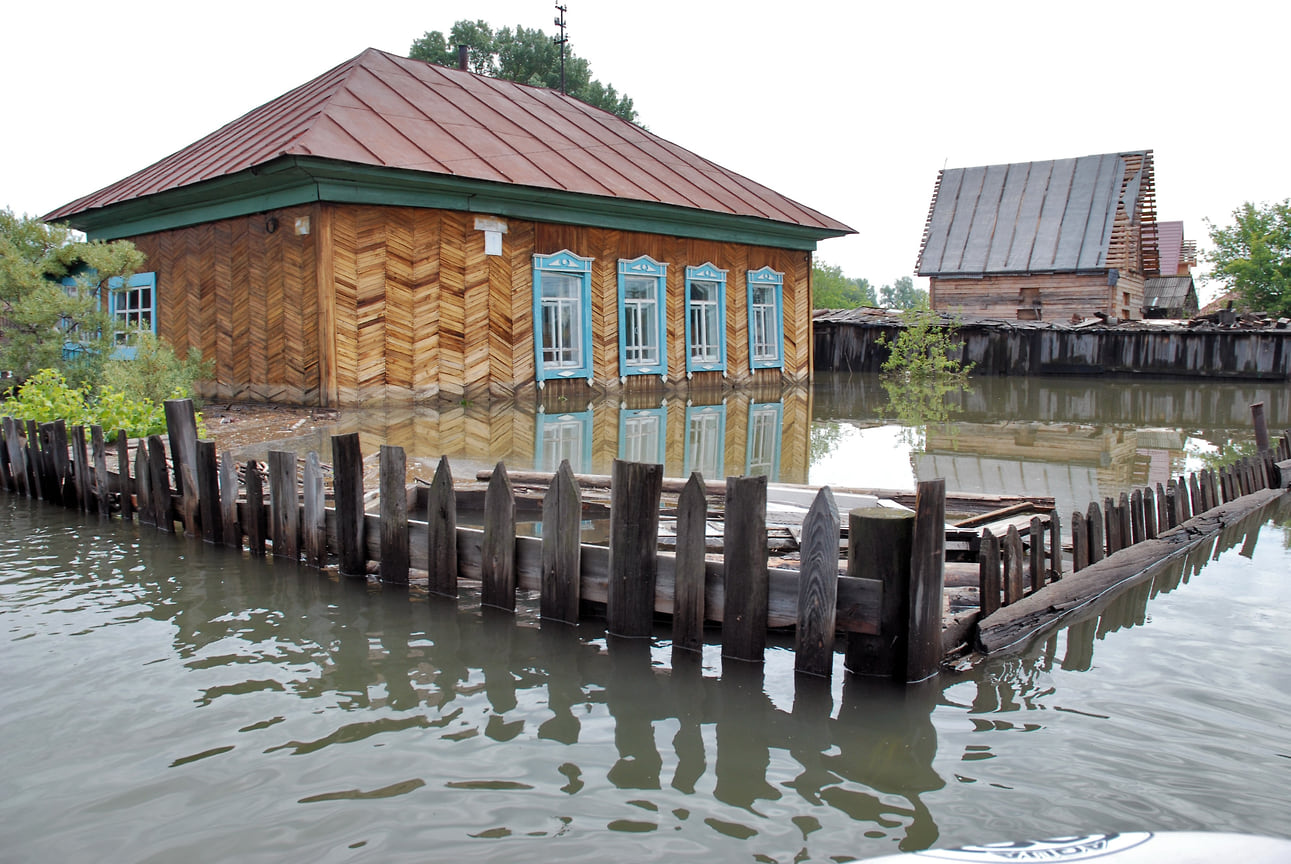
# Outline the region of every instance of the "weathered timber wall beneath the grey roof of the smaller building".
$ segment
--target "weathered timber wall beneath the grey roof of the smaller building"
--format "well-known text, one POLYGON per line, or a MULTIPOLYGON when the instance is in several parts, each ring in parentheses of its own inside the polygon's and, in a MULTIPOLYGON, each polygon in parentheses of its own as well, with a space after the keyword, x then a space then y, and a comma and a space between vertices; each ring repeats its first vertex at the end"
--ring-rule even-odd
POLYGON ((1105 273, 930 279, 932 309, 972 318, 1030 320, 1039 300, 1041 319, 1070 320, 1106 313, 1114 318, 1143 318, 1143 276, 1122 273, 1115 285, 1105 273))

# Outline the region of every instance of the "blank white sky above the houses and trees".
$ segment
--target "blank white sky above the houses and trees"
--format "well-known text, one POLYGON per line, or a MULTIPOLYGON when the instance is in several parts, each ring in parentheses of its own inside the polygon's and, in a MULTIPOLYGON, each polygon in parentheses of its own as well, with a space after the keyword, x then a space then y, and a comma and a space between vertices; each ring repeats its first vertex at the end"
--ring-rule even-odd
MULTIPOLYGON (((856 229, 817 254, 875 285, 913 273, 942 167, 1153 149, 1158 216, 1202 248, 1203 218, 1291 198, 1281 0, 565 5, 652 132, 856 229)), ((551 34, 553 6, 9 4, 0 207, 46 213, 364 48, 458 18, 551 34)))

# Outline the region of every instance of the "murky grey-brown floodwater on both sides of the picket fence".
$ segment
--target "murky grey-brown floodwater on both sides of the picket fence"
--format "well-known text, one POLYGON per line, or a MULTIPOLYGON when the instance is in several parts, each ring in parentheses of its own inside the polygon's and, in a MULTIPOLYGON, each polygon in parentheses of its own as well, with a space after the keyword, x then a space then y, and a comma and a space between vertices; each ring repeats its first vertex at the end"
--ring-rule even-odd
MULTIPOLYGON (((782 427, 808 434, 778 479, 909 487, 951 455, 1044 477, 1033 466, 1061 462, 1010 448, 1065 426, 1073 461, 1083 440, 1110 448, 1086 475, 1108 493, 1248 438, 1260 395, 986 382, 982 408, 963 396, 919 425, 866 385, 785 404, 782 427), (1117 421, 1115 399, 1144 413, 1117 421)), ((1270 426, 1291 426, 1285 389, 1265 395, 1270 426)), ((749 402, 726 408, 742 443, 707 452, 729 469, 755 424, 749 402)), ((395 438, 430 434, 413 415, 395 438)), ((510 424, 506 453, 482 461, 544 452, 514 431, 533 420, 480 426, 463 407, 435 434, 458 422, 473 438, 510 424)), ((684 460, 671 422, 664 447, 684 460)), ((1093 832, 1291 837, 1288 526, 1283 497, 1021 656, 892 690, 840 663, 830 683, 795 681, 784 644, 762 668, 714 646, 674 657, 662 632, 540 626, 532 603, 485 615, 470 594, 435 602, 0 493, 0 859, 788 863, 1093 832)))

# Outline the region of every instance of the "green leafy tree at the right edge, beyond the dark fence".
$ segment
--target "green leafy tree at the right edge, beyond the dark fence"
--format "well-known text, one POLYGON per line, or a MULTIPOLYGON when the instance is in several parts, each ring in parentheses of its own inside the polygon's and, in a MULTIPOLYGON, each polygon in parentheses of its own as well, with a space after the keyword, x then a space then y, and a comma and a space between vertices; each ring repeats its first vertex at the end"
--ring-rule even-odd
POLYGON ((1246 305, 1270 315, 1291 315, 1291 199, 1233 211, 1233 225, 1216 227, 1210 220, 1215 251, 1210 279, 1237 291, 1246 305))

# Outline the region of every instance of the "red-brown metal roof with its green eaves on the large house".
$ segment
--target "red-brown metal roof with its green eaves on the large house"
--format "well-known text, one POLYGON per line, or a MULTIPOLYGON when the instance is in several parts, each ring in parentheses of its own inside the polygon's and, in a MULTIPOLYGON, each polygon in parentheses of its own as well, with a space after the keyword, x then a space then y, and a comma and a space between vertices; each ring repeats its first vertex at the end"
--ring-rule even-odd
POLYGON ((315 200, 799 249, 853 232, 573 97, 371 48, 45 218, 114 239, 315 200))

